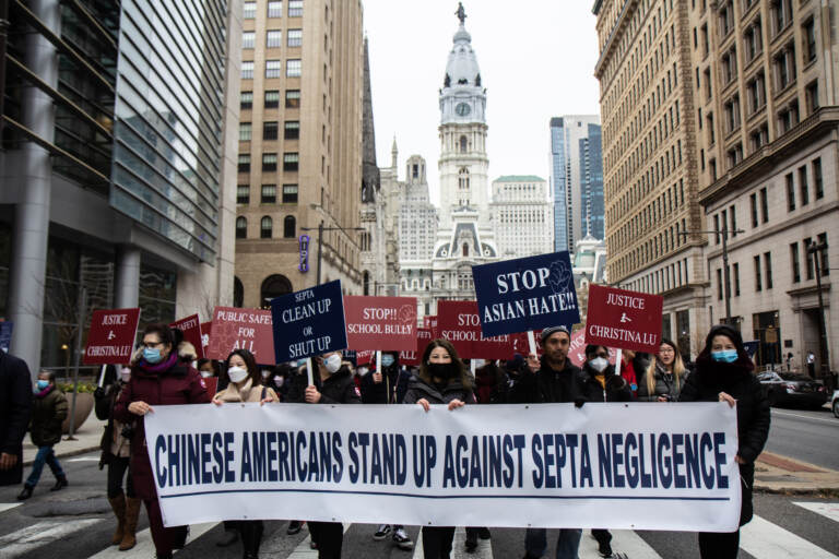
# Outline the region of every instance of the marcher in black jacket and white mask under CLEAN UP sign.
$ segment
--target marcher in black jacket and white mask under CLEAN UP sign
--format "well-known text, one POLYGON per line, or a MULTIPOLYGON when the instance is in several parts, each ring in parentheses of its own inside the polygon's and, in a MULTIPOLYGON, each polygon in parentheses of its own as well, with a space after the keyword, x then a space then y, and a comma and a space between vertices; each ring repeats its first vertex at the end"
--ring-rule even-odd
MULTIPOLYGON (((342 366, 341 352, 329 352, 312 359, 317 365, 320 386, 306 386, 307 404, 361 404, 362 395, 352 371, 342 366)), ((305 373, 304 373, 305 374, 305 373)), ((309 534, 320 559, 339 559, 344 542, 344 527, 340 522, 309 522, 309 534)))

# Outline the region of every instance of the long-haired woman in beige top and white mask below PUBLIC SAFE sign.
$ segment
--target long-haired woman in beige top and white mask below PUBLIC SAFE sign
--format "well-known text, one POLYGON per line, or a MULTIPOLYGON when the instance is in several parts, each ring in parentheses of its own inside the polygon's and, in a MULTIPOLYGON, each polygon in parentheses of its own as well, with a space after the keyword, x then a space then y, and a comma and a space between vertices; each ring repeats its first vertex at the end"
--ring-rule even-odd
MULTIPOLYGON (((247 349, 234 349, 227 356, 225 365, 231 382, 226 389, 213 396, 213 404, 216 406, 225 402, 259 402, 259 405, 263 405, 280 401, 272 388, 262 385, 262 373, 257 367, 257 360, 247 349)), ((225 521, 224 531, 225 538, 217 542, 217 546, 226 547, 233 544, 236 540, 235 533, 238 532, 245 551, 244 559, 259 557, 259 547, 265 531, 261 520, 225 521), (233 542, 229 542, 231 539, 233 542)))

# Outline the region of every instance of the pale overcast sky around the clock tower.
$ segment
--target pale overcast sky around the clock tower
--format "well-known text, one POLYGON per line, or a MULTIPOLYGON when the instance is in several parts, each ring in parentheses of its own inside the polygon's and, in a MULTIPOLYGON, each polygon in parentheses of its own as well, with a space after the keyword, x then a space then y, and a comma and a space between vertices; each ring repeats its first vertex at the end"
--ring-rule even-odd
MULTIPOLYGON (((363 0, 369 43, 376 156, 399 176, 425 157, 439 203, 439 88, 458 29, 452 0, 363 0)), ((599 115, 593 0, 465 0, 466 31, 487 90, 489 181, 503 175, 548 179, 551 117, 599 115)))

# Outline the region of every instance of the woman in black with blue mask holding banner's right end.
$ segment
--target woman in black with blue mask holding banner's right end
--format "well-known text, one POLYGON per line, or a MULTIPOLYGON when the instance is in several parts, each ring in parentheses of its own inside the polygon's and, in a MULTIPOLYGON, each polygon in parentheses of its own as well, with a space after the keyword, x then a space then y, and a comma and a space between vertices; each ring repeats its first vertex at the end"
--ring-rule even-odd
MULTIPOLYGON (((696 371, 685 381, 680 402, 726 402, 737 406, 741 495, 740 525, 752 520, 752 485, 755 460, 769 436, 769 401, 753 374, 755 366, 746 354, 740 332, 726 324, 711 328, 705 349, 696 358, 696 371)), ((702 559, 737 557, 740 530, 729 533, 699 533, 702 559)))

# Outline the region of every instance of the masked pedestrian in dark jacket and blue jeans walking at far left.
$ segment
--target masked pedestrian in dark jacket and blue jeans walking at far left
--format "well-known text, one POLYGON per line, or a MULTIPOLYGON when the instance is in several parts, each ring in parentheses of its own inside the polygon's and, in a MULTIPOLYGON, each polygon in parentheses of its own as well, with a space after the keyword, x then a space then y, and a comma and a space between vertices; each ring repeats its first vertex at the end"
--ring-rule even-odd
POLYGON ((32 497, 32 491, 38 485, 40 473, 44 471, 44 464, 49 465, 49 469, 56 476, 56 485, 49 490, 58 491, 67 487, 67 476, 52 450, 52 447, 61 441, 61 424, 66 417, 67 399, 63 392, 56 386, 56 374, 51 371, 40 371, 35 384, 32 426, 29 427, 29 437, 32 443, 38 448, 38 453, 32 463, 32 473, 17 496, 19 501, 32 497))

